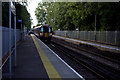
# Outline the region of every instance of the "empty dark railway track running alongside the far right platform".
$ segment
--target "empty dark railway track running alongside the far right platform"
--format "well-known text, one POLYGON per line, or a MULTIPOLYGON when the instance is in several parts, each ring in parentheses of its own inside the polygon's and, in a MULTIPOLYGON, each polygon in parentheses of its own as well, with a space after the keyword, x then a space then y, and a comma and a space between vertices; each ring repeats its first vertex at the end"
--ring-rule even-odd
POLYGON ((93 55, 99 56, 101 58, 107 59, 111 62, 120 64, 120 55, 119 55, 120 53, 106 51, 105 49, 101 50, 101 49, 96 48, 94 46, 69 42, 69 41, 66 41, 64 39, 57 39, 55 37, 53 37, 52 39, 53 39, 53 41, 58 41, 64 45, 70 46, 72 48, 76 48, 76 49, 79 49, 81 51, 85 51, 85 52, 91 53, 93 55))

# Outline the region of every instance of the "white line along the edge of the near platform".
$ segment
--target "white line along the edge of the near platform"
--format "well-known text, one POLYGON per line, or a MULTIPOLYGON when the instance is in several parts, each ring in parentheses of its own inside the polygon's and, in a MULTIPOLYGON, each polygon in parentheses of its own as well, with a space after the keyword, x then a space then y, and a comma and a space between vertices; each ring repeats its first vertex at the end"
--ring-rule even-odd
MULTIPOLYGON (((41 41, 42 42, 42 41, 41 41)), ((44 44, 42 42, 42 44, 44 44)), ((77 76, 79 76, 82 80, 85 80, 78 72, 76 72, 71 66, 69 66, 63 59, 61 59, 53 50, 51 50, 46 44, 44 44, 55 56, 57 56, 67 67, 69 67, 77 76)))

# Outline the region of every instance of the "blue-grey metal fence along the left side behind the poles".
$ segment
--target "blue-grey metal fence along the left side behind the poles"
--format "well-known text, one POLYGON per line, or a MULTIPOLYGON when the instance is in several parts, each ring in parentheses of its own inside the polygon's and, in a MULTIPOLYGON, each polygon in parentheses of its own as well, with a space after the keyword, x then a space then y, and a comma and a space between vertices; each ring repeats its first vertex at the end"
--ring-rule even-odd
MULTIPOLYGON (((6 53, 9 51, 9 28, 2 27, 0 28, 2 30, 2 57, 6 55, 6 53)), ((14 29, 11 30, 11 47, 14 45, 14 29)), ((19 29, 16 29, 16 41, 18 42, 21 40, 21 31, 19 29)))

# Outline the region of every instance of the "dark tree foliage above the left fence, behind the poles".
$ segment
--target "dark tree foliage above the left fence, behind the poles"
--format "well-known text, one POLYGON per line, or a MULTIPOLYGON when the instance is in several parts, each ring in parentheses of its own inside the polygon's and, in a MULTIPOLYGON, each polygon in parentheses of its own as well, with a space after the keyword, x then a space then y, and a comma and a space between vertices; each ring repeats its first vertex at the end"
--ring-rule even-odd
MULTIPOLYGON (((16 2, 16 28, 21 29, 21 25, 18 22, 19 19, 22 19, 22 25, 31 28, 31 18, 30 14, 27 11, 26 6, 21 5, 20 3, 16 2)), ((12 28, 14 28, 14 15, 11 12, 11 24, 12 28)), ((2 3, 2 26, 9 27, 9 3, 3 2, 2 3)))

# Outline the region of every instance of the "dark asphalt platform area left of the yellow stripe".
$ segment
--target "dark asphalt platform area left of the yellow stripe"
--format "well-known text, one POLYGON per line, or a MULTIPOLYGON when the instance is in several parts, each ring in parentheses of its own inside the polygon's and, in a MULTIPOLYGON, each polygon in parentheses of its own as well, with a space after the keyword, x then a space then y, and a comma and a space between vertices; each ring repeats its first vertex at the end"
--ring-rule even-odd
MULTIPOLYGON (((3 66, 2 79, 9 78, 9 60, 3 66)), ((17 66, 12 54, 12 78, 48 80, 48 75, 40 59, 31 36, 17 46, 17 66)))

